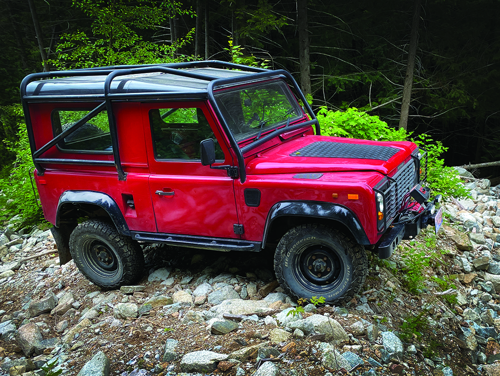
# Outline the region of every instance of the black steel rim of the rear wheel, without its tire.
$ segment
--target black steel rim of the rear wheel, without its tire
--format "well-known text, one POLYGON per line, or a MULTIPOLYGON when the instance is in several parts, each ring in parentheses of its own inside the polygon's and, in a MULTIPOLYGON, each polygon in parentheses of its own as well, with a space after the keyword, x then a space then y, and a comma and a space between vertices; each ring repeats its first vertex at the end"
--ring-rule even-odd
POLYGON ((114 247, 99 239, 89 239, 83 243, 83 259, 97 275, 105 278, 116 275, 120 269, 120 260, 114 247))

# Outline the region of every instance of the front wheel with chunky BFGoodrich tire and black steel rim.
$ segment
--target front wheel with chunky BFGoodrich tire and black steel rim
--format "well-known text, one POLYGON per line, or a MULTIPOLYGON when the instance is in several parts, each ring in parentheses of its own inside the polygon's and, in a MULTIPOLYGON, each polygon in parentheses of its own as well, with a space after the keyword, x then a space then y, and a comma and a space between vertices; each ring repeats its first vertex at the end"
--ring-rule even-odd
POLYGON ((362 245, 321 224, 302 224, 286 232, 274 253, 279 284, 295 299, 323 296, 326 302, 349 300, 366 277, 362 245))

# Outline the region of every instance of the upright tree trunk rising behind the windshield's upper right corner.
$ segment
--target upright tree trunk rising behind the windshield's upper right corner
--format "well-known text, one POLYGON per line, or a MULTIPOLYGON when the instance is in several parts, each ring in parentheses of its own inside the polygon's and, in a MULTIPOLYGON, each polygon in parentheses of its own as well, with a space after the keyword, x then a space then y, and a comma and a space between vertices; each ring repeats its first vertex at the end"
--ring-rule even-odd
POLYGON ((307 28, 307 0, 297 0, 298 48, 300 85, 304 95, 311 94, 309 63, 309 31, 307 28))

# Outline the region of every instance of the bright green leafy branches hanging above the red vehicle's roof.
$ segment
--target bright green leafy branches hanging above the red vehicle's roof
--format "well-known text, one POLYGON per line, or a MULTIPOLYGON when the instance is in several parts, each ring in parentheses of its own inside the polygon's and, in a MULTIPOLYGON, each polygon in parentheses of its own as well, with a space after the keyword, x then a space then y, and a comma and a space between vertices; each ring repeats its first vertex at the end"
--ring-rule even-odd
POLYGON ((192 39, 193 29, 170 44, 144 37, 147 30, 158 29, 169 15, 192 15, 178 2, 80 0, 73 1, 73 5, 93 19, 91 32, 78 30, 62 34, 56 57, 50 60, 59 69, 186 59, 185 56, 175 57, 174 53, 192 39))

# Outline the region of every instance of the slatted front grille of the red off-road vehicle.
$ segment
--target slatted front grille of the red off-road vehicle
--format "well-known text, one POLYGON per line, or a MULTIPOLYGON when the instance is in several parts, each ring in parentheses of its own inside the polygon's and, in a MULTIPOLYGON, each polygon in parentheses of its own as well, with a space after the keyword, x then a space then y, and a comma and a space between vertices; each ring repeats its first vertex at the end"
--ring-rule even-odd
POLYGON ((403 201, 406 200, 406 194, 417 184, 416 173, 415 160, 411 159, 389 177, 389 186, 383 191, 387 223, 392 222, 400 211, 403 201))

